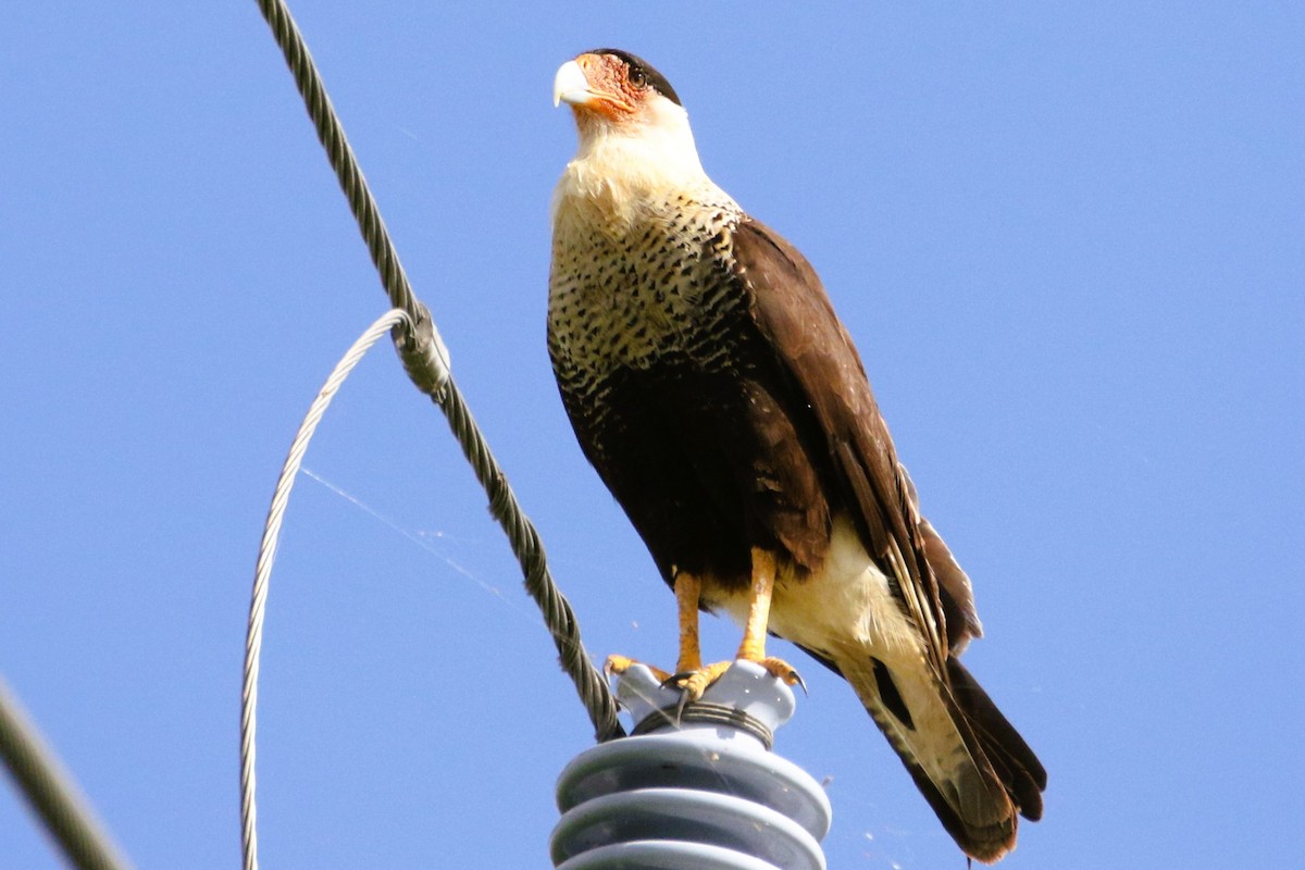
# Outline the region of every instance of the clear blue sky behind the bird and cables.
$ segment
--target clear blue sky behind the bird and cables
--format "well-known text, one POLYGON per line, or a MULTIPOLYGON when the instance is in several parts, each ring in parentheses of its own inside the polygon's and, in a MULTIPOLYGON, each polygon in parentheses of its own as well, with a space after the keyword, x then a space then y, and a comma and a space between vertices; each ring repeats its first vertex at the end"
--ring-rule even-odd
MULTIPOLYGON (((606 44, 673 82, 707 171, 820 270, 974 578, 966 661, 1051 776, 1004 866, 1298 858, 1305 13, 436 7, 292 8, 595 655, 675 646, 543 343, 574 147, 552 76, 606 44)), ((0 673, 140 867, 236 866, 264 513, 384 295, 253 3, 16 4, 0 115, 0 673)), ((264 866, 547 866, 589 724, 384 344, 305 464, 264 866)), ((852 694, 805 676, 778 747, 829 779, 830 866, 963 866, 852 694)), ((10 788, 0 844, 59 866, 10 788)))

